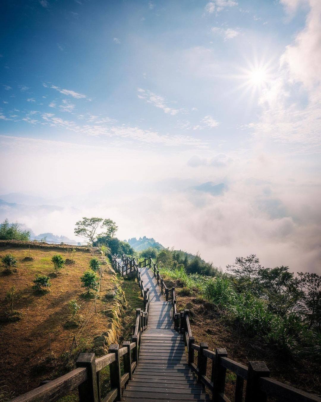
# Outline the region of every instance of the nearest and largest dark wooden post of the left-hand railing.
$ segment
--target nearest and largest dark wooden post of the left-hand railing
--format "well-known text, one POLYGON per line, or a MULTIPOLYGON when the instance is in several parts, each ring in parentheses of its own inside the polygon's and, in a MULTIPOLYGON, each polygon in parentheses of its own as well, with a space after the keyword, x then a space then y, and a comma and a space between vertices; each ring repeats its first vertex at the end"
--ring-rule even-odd
POLYGON ((79 402, 98 402, 95 353, 80 353, 76 367, 86 367, 87 380, 78 386, 79 402))

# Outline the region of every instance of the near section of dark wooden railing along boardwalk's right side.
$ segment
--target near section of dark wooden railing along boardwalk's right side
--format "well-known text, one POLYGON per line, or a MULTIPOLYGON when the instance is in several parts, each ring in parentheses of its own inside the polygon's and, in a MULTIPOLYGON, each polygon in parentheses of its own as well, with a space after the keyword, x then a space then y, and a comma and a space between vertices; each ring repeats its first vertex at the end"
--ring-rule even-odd
POLYGON ((188 364, 198 376, 198 382, 212 392, 213 401, 230 402, 225 394, 226 370, 230 370, 236 375, 235 402, 243 400, 244 380, 246 381, 245 402, 265 402, 268 397, 280 402, 321 402, 321 398, 317 396, 269 378, 270 371, 264 361, 250 361, 246 367, 228 359, 225 349, 217 348, 213 352, 208 349, 207 343, 196 345, 190 328, 189 310, 174 314, 174 326, 178 332, 184 334, 188 364), (197 352, 196 363, 195 351, 197 352), (209 362, 212 363, 210 378, 206 375, 209 362))

